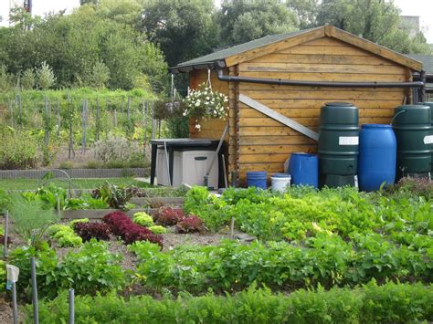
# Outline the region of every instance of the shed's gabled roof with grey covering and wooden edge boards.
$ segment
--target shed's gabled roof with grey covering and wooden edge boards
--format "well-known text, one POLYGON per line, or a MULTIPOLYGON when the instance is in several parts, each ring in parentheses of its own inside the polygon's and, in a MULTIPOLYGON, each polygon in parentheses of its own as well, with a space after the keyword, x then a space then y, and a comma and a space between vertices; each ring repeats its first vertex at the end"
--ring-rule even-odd
POLYGON ((215 65, 220 68, 230 67, 238 63, 245 62, 256 57, 261 57, 269 53, 276 52, 280 49, 294 47, 320 37, 333 37, 354 47, 360 47, 368 52, 374 53, 379 57, 385 57, 386 59, 394 61, 397 64, 407 68, 411 68, 416 71, 421 71, 422 69, 422 63, 418 62, 416 57, 407 57, 389 48, 382 47, 334 26, 321 26, 292 33, 261 37, 259 39, 249 41, 248 43, 222 49, 204 57, 197 57, 195 59, 180 63, 176 67, 170 68, 170 70, 173 73, 177 73, 192 69, 213 68, 215 65))

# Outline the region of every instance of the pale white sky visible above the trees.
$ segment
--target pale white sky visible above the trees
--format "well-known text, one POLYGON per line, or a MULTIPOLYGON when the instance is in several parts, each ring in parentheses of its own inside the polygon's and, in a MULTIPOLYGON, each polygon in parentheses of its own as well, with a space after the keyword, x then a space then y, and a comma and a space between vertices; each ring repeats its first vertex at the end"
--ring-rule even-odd
MULTIPOLYGON (((7 16, 9 4, 22 0, 0 0, 0 16, 3 16, 3 22, 0 26, 7 26, 7 16)), ((215 0, 216 5, 219 5, 221 0, 215 0)), ((428 43, 433 44, 433 0, 394 0, 394 3, 401 9, 401 15, 404 16, 420 16, 421 28, 424 31, 428 43)), ((50 11, 58 12, 59 10, 67 9, 71 12, 74 7, 79 6, 79 0, 33 0, 33 13, 38 16, 43 16, 50 11)))

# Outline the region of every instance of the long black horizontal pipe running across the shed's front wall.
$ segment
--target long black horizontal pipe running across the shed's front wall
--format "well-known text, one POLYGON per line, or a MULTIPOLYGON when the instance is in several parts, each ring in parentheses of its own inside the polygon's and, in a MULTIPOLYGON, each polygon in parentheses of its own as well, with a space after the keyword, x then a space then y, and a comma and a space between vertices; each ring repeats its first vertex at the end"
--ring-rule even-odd
POLYGON ((247 82, 261 84, 276 84, 279 86, 298 87, 330 87, 330 88, 416 88, 424 89, 425 83, 415 82, 327 82, 327 81, 301 81, 287 80, 281 78, 249 78, 227 76, 221 68, 216 69, 216 76, 220 81, 225 82, 247 82))

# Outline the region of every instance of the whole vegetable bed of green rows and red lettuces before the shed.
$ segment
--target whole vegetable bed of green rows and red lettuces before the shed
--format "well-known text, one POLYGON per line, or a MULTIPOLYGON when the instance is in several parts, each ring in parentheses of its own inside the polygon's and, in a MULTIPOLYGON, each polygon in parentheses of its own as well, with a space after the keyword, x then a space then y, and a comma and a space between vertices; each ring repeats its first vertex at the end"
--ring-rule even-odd
POLYGON ((126 213, 90 211, 105 215, 102 222, 81 210, 63 211, 70 219, 58 224, 68 228, 61 235, 48 229, 51 248, 23 249, 25 240, 15 234, 9 262, 22 269, 23 302, 28 257, 44 260, 37 271, 39 296, 47 298, 41 304, 45 319, 54 313, 65 318, 65 293, 53 298, 74 287, 79 311, 99 322, 109 315, 86 310, 85 303, 111 305, 117 314, 147 309, 136 310, 135 318, 122 313, 129 322, 152 321, 158 312, 151 306, 165 309, 159 313, 164 319, 182 313, 185 321, 244 320, 242 305, 276 322, 433 320, 432 193, 433 185, 420 181, 381 193, 290 188, 283 195, 251 188, 215 196, 195 187, 182 199, 182 210, 165 204, 126 213), (148 214, 137 214, 143 211, 148 214), (90 223, 70 224, 77 217, 90 223), (228 239, 233 224, 233 237, 248 239, 228 239), (166 233, 152 232, 154 225, 164 225, 166 233), (105 241, 77 243, 76 236, 88 240, 90 234, 105 241), (108 295, 84 296, 96 292, 108 295), (122 308, 114 306, 119 303, 122 308))

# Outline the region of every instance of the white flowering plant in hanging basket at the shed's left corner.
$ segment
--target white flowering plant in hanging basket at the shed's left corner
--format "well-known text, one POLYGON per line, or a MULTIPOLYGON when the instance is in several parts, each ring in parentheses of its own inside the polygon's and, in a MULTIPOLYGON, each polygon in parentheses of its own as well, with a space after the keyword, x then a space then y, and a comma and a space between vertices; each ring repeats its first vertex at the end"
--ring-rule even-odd
POLYGON ((227 96, 213 91, 210 85, 202 83, 189 92, 184 99, 184 116, 195 119, 195 128, 200 129, 198 120, 221 119, 227 116, 227 96))

